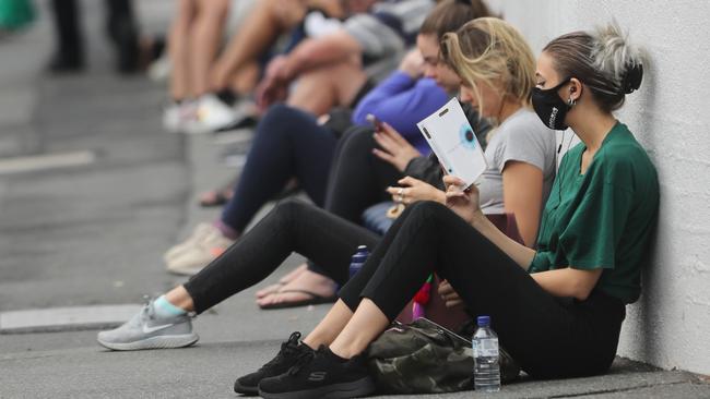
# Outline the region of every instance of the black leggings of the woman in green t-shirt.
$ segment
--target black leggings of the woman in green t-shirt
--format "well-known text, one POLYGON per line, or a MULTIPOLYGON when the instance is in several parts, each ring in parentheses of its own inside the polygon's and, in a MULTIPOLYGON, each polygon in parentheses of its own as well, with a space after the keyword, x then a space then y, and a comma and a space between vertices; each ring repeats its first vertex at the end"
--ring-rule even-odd
POLYGON ((616 354, 625 306, 593 292, 555 298, 495 244, 446 206, 407 207, 340 297, 355 311, 368 298, 393 319, 436 271, 473 315, 489 315, 500 342, 530 375, 600 374, 616 354))

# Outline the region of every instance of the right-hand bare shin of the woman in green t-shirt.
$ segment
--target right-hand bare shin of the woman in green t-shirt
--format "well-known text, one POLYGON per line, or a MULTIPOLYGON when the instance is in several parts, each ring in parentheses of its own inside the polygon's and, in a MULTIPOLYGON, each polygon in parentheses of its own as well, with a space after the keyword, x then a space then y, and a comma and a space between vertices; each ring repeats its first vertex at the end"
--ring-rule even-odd
POLYGON ((330 344, 330 350, 341 358, 351 359, 363 353, 389 324, 390 321, 375 302, 364 298, 347 325, 330 344))

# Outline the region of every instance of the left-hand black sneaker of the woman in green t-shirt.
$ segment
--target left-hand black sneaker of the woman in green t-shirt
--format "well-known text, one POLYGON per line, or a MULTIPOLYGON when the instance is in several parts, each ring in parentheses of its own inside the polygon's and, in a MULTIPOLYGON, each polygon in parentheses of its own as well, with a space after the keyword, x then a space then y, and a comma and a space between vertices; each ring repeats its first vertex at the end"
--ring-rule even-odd
POLYGON ((274 359, 264 364, 258 371, 237 378, 234 383, 234 391, 237 394, 259 394, 259 383, 268 377, 275 377, 288 371, 303 353, 310 353, 313 350, 307 344, 299 342, 300 332, 296 331, 288 337, 288 340, 281 344, 281 350, 274 359))

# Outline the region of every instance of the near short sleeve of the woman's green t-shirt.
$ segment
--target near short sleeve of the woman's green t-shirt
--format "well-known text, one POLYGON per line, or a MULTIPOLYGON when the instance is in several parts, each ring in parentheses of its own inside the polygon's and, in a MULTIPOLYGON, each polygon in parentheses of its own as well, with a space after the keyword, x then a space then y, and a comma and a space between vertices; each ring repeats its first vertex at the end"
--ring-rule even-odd
POLYGON ((616 249, 632 205, 632 179, 626 168, 618 169, 597 171, 559 235, 559 245, 573 268, 616 266, 616 249))

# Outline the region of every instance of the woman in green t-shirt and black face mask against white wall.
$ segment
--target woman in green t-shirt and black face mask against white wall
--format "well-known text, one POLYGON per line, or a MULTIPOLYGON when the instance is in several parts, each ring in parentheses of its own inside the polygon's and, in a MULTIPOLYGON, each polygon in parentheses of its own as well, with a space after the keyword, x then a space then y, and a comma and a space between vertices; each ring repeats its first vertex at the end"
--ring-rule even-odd
MULTIPOLYGON (((445 59, 457 51, 451 35, 441 47, 445 59)), ((653 165, 612 113, 641 75, 638 52, 617 26, 549 43, 537 61, 533 107, 548 128, 569 126, 582 143, 561 161, 537 250, 483 216, 475 186, 461 191, 461 180, 446 177, 447 206, 406 209, 300 350, 288 349, 299 353, 297 367, 261 380, 260 394, 369 392, 360 353, 433 268, 452 287, 440 292, 448 303, 489 315, 500 342, 531 376, 606 372, 625 305, 640 293, 659 204, 653 165)), ((279 356, 293 355, 288 350, 279 356)))

